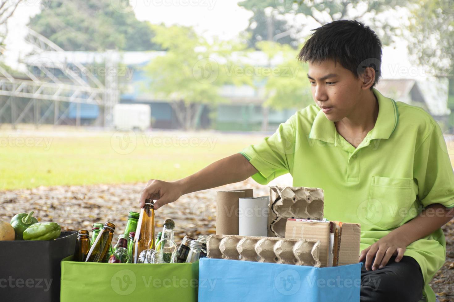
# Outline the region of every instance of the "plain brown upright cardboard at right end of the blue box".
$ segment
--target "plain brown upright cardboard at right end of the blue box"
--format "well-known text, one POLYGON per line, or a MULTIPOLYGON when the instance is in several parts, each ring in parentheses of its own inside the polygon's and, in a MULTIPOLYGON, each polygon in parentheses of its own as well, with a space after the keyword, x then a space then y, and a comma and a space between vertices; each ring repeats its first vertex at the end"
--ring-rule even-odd
POLYGON ((340 225, 338 265, 355 264, 360 259, 361 225, 334 221, 340 225))

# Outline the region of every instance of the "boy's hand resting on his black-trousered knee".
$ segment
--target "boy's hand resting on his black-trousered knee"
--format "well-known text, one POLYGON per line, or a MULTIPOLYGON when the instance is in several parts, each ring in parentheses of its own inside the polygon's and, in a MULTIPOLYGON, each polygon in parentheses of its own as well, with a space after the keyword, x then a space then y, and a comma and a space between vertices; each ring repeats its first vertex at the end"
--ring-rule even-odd
POLYGON ((360 262, 365 259, 366 270, 370 270, 374 256, 375 261, 372 265, 372 270, 384 267, 393 255, 397 255, 394 261, 399 262, 407 249, 407 246, 402 241, 399 236, 390 233, 368 248, 363 249, 360 255, 360 262))

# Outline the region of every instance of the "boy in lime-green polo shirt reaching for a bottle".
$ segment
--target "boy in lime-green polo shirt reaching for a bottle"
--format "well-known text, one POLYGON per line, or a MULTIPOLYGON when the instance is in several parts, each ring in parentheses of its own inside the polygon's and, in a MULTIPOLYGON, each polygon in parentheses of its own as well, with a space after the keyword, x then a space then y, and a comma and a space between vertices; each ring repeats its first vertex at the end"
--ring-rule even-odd
POLYGON ((321 26, 298 58, 309 63, 315 104, 261 143, 189 177, 150 180, 141 205, 154 194, 158 209, 190 192, 251 176, 265 185, 291 173, 294 187, 324 190, 328 220, 361 224, 361 301, 435 301, 429 282, 444 264, 441 226, 454 207, 441 129, 421 108, 373 88, 381 42, 364 24, 321 26))

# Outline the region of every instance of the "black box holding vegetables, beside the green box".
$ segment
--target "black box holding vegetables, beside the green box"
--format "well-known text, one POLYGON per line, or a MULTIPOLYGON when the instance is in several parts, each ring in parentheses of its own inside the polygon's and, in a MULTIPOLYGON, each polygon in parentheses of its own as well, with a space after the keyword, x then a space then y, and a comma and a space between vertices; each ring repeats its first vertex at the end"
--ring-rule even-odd
POLYGON ((60 262, 74 254, 77 232, 46 241, 0 241, 0 301, 59 301, 60 262))

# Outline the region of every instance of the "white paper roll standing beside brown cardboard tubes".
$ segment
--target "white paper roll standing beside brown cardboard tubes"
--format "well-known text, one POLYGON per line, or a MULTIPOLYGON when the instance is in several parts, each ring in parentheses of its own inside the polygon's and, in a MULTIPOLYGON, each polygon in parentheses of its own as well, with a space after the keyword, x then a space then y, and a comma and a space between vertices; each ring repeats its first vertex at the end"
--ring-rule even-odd
POLYGON ((238 235, 268 235, 269 196, 240 198, 238 201, 238 235))

